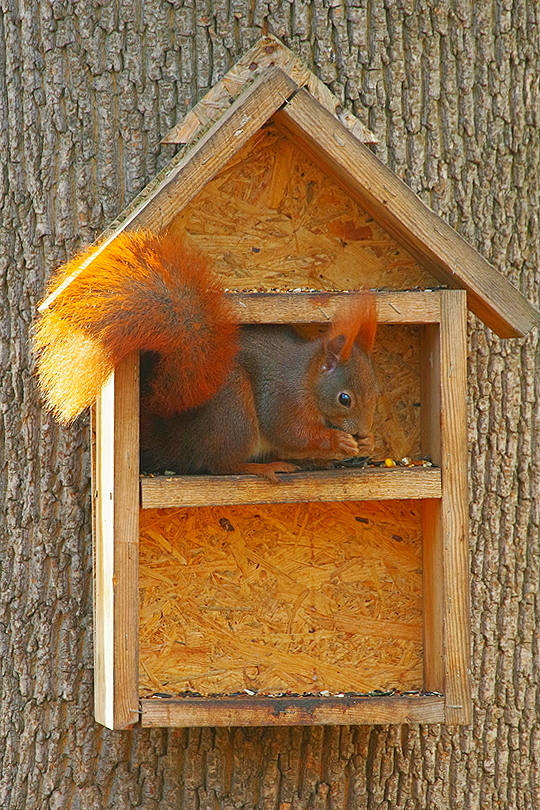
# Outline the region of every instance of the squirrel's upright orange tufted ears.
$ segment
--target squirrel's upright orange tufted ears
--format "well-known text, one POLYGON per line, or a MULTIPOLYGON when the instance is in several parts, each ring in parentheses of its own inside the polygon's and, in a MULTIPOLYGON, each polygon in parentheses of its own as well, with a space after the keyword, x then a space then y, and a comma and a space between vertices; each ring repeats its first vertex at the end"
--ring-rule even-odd
POLYGON ((377 302, 375 294, 364 290, 357 293, 336 313, 325 345, 328 346, 338 337, 342 338, 343 344, 339 352, 339 359, 347 360, 354 343, 357 343, 365 352, 371 352, 376 331, 377 302))

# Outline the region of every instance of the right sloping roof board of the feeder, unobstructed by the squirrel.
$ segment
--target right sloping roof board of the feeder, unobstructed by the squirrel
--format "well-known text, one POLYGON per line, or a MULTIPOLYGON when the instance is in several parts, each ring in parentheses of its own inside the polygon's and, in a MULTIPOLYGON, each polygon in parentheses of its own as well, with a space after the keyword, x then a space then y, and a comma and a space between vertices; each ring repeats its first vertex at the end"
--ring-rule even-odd
POLYGON ((498 335, 519 337, 540 322, 519 290, 306 90, 274 120, 436 278, 465 288, 469 307, 498 335))

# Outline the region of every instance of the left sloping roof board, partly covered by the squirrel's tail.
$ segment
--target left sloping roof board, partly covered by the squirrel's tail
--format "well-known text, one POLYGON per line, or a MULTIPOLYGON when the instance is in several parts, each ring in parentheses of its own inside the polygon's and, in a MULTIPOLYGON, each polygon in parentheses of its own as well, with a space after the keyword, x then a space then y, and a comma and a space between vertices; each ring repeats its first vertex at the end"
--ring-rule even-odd
MULTIPOLYGON (((227 161, 254 135, 298 85, 282 70, 265 70, 180 160, 173 158, 108 229, 96 252, 76 273, 69 276, 39 307, 44 312, 92 259, 128 228, 161 231, 173 216, 220 171, 227 161)), ((351 136, 354 137, 354 136, 351 136)), ((356 139, 355 139, 356 140, 356 139)))

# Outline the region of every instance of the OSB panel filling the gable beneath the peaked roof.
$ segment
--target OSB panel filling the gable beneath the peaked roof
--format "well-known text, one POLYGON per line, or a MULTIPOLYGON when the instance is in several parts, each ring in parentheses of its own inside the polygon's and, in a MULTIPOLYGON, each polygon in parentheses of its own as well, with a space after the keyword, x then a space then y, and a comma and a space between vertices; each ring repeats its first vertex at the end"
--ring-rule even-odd
POLYGON ((172 221, 230 289, 438 287, 270 123, 172 221))

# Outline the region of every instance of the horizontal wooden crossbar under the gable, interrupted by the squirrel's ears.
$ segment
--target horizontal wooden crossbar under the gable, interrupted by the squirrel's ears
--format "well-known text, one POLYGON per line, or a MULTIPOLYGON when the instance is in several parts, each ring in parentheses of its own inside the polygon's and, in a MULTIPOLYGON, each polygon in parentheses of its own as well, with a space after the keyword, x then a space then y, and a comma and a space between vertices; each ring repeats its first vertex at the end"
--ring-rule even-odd
MULTIPOLYGON (((354 292, 228 293, 240 323, 326 323, 354 292)), ((437 323, 440 292, 377 292, 379 323, 437 323)))

